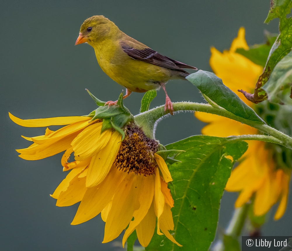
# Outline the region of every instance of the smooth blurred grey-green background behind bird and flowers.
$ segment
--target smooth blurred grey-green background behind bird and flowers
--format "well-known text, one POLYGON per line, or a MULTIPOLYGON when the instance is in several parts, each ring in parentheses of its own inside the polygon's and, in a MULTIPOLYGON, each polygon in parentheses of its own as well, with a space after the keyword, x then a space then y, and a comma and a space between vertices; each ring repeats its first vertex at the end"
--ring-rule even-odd
MULTIPOLYGON (((117 99, 122 87, 102 72, 93 48, 74 46, 86 18, 105 15, 159 53, 210 71, 210 46, 228 49, 239 27, 246 28, 250 45, 264 41, 264 29, 278 32, 278 20, 263 24, 269 8, 269 0, 1 0, 0 250, 121 250, 121 238, 101 243, 100 215, 70 225, 78 205, 58 208, 49 196, 66 176, 62 154, 39 161, 19 158, 15 149, 29 145, 20 135, 41 135, 45 128, 22 128, 8 117, 8 111, 24 119, 88 114, 95 103, 85 88, 101 100, 117 99)), ((188 81, 170 81, 166 89, 173 102, 203 102, 188 81)), ((139 112, 142 96, 133 93, 124 101, 133 114, 139 112)), ((159 91, 151 107, 164 102, 159 91)), ((156 137, 168 144, 200 134, 203 125, 192 113, 181 113, 160 122, 156 137)), ((218 231, 228 224, 236 197, 224 194, 218 231)), ((277 222, 271 219, 262 233, 292 235, 291 210, 277 222)))

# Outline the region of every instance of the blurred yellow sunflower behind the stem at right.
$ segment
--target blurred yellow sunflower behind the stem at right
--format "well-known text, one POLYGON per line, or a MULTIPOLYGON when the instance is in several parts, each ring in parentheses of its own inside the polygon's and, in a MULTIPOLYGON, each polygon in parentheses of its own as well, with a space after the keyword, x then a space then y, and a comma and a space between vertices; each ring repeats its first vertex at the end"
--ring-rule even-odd
MULTIPOLYGON (((252 92, 254 85, 263 72, 263 67, 256 65, 246 57, 236 53, 237 48, 248 49, 245 30, 240 28, 237 38, 229 51, 219 52, 211 48, 210 65, 214 73, 223 83, 250 107, 256 105, 248 101, 238 89, 252 92)), ((206 123, 202 133, 210 136, 227 137, 230 135, 259 134, 260 132, 248 125, 243 125, 229 118, 195 112, 195 116, 206 123)), ((249 141, 248 150, 239 165, 232 171, 225 190, 240 192, 235 207, 241 207, 254 196, 253 212, 256 216, 264 215, 272 205, 279 201, 274 219, 283 216, 288 198, 291 171, 282 169, 273 158, 273 149, 265 142, 249 141)))

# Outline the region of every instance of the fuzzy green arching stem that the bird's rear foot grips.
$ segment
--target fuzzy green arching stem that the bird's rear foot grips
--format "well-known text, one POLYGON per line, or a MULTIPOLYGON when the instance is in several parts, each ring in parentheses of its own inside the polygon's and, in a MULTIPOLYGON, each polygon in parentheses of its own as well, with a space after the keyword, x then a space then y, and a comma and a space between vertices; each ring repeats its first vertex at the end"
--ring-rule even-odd
MULTIPOLYGON (((239 121, 243 124, 250 125, 251 127, 258 129, 263 133, 266 133, 267 135, 273 136, 274 138, 278 140, 277 144, 281 144, 285 147, 292 149, 292 138, 289 137, 288 135, 264 123, 251 121, 251 120, 236 116, 232 114, 231 112, 226 111, 222 107, 219 107, 219 106, 214 107, 209 104, 199 104, 199 103, 194 103, 194 102, 177 102, 177 103, 173 103, 173 109, 174 111, 202 111, 206 113, 217 114, 220 116, 224 116, 226 118, 239 121)), ((164 111, 164 105, 163 105, 163 106, 159 106, 149 111, 145 111, 143 113, 136 115, 135 121, 140 126, 143 127, 143 131, 147 135, 147 137, 154 139, 155 138, 155 135, 154 135, 155 124, 157 123, 157 120, 159 120, 159 118, 165 115, 167 114, 164 111)), ((261 139, 257 138, 256 140, 261 140, 261 139)))

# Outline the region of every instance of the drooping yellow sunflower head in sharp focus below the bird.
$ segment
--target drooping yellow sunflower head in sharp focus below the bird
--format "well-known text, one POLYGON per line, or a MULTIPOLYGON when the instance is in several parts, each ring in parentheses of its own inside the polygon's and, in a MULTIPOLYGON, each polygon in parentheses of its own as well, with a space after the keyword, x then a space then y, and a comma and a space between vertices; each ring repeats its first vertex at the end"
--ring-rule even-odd
MULTIPOLYGON (((123 245, 136 230, 146 247, 154 234, 181 246, 168 232, 174 229, 172 199, 168 182, 171 174, 164 159, 156 154, 159 144, 145 136, 133 123, 124 128, 125 139, 113 129, 103 130, 102 121, 90 117, 58 117, 22 120, 9 113, 12 121, 26 127, 67 125, 46 129, 44 135, 24 137, 33 144, 18 149, 20 157, 38 160, 62 151, 63 171, 70 170, 51 195, 57 206, 81 201, 72 225, 86 222, 101 213, 105 221, 103 243, 117 238, 126 229, 123 245), (74 152, 74 161, 68 162, 74 152)), ((22 136, 23 137, 23 136, 22 136)))

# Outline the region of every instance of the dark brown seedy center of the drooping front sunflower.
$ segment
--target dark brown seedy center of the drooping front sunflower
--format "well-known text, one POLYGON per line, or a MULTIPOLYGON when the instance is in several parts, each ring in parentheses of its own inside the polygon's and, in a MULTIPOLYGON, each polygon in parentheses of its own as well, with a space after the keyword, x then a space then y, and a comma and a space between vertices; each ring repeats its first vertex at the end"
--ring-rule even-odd
POLYGON ((128 126, 126 137, 115 159, 115 165, 124 172, 151 175, 155 173, 157 163, 154 153, 159 146, 155 140, 146 137, 138 127, 128 126))

